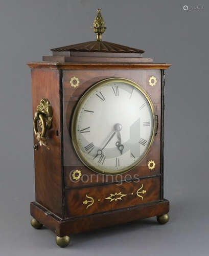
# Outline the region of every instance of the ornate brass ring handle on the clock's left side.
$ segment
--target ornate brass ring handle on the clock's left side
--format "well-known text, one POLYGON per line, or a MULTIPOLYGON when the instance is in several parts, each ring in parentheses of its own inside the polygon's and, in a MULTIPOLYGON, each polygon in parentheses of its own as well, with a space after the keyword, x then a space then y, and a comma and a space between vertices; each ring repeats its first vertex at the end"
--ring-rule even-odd
POLYGON ((52 106, 50 101, 48 99, 41 99, 36 110, 33 118, 33 131, 40 146, 44 145, 49 150, 50 148, 47 145, 47 131, 52 126, 52 106), (38 125, 41 127, 40 132, 38 131, 38 125))

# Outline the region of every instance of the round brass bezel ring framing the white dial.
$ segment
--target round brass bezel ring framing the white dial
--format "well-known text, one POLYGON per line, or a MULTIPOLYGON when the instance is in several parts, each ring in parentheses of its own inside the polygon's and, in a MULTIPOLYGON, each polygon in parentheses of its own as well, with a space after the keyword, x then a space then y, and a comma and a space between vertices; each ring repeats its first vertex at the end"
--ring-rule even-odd
POLYGON ((72 123, 71 123, 71 136, 72 136, 72 142, 73 142, 73 146, 74 146, 74 149, 76 151, 76 154, 77 156, 79 157, 79 159, 81 160, 81 162, 86 166, 88 167, 89 169, 91 169, 92 171, 98 173, 98 174, 106 174, 106 175, 117 175, 117 174, 124 174, 126 172, 129 172, 129 170, 133 169, 136 165, 138 165, 139 163, 142 162, 142 160, 145 158, 145 156, 147 155, 150 147, 151 147, 151 144, 153 142, 153 139, 154 139, 154 135, 155 135, 155 130, 156 130, 156 120, 155 120, 155 113, 154 113, 154 105, 149 97, 149 95, 146 93, 146 91, 141 87, 139 86, 137 83, 129 80, 129 79, 126 79, 126 78, 121 78, 121 77, 115 77, 115 78, 107 78, 107 79, 104 79, 104 80, 101 80, 95 84, 93 84, 82 96, 81 98, 79 99, 77 105, 76 105, 76 108, 74 110, 74 113, 73 113, 73 118, 72 118, 72 123), (150 105, 150 108, 151 108, 151 111, 152 111, 152 119, 153 119, 153 131, 152 131, 152 137, 150 139, 150 143, 147 147, 147 150, 145 151, 145 153, 143 154, 143 156, 137 161, 135 162, 134 164, 130 165, 129 167, 127 168, 123 168, 121 169, 120 171, 118 172, 105 172, 103 170, 100 170, 98 168, 96 168, 95 166, 89 166, 87 163, 86 163, 86 160, 85 158, 82 156, 82 154, 80 153, 81 150, 79 148, 79 145, 78 145, 78 142, 77 142, 77 134, 76 134, 76 124, 77 124, 77 121, 78 121, 78 114, 80 112, 80 109, 82 108, 82 104, 84 102, 84 100, 86 99, 86 97, 88 97, 92 91, 95 90, 95 88, 100 88, 108 83, 111 83, 112 81, 114 82, 125 82, 125 83, 128 83, 130 84, 131 86, 135 87, 137 90, 139 90, 141 93, 144 94, 145 98, 147 99, 149 105, 150 105))

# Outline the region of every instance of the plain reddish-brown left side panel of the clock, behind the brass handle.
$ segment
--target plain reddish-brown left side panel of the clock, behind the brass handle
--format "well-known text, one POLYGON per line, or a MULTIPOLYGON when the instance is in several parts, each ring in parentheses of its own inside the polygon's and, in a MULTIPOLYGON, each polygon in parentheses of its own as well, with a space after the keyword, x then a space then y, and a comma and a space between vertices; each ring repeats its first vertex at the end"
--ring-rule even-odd
POLYGON ((33 116, 42 98, 49 99, 52 105, 52 128, 47 133, 48 150, 39 146, 34 151, 36 201, 54 214, 62 216, 61 178, 61 128, 60 128, 60 87, 59 70, 32 69, 33 116))

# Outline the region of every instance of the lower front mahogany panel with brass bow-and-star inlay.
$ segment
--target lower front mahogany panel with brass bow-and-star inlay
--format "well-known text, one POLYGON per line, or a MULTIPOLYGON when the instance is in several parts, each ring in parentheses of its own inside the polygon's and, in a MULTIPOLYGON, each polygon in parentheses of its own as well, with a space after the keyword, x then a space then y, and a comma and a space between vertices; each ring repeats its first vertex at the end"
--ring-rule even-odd
POLYGON ((66 216, 83 216, 108 210, 158 201, 159 177, 127 182, 121 185, 85 187, 65 190, 66 216))

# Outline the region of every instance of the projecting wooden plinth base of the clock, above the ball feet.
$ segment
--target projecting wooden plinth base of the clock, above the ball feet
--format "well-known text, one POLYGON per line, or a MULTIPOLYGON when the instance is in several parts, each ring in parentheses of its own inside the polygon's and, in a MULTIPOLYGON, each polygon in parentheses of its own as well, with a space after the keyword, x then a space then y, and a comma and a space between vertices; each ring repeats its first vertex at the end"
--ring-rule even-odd
POLYGON ((48 209, 36 202, 31 203, 31 215, 44 226, 55 231, 60 236, 86 232, 98 228, 119 225, 126 222, 160 216, 169 212, 169 201, 136 205, 133 207, 103 212, 100 214, 61 220, 48 209))

